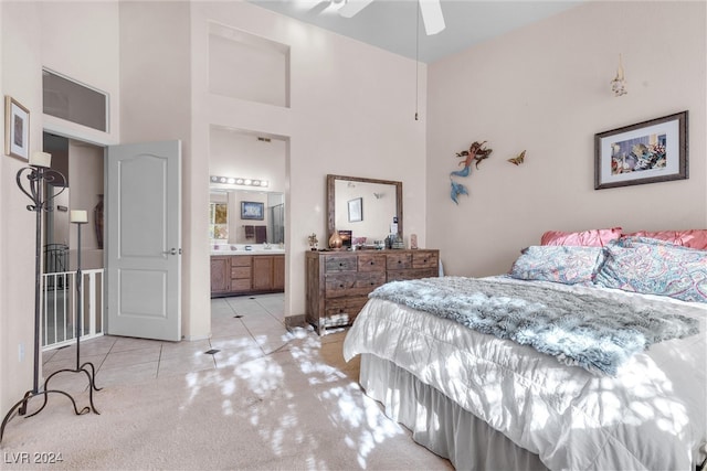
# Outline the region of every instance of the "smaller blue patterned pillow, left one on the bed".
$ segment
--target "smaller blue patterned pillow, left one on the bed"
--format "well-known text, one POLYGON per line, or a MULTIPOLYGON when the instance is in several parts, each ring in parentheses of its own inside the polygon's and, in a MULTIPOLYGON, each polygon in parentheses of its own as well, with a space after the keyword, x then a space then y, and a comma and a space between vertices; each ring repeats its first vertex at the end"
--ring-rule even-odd
POLYGON ((513 264, 510 276, 521 280, 591 285, 601 247, 531 246, 513 264))

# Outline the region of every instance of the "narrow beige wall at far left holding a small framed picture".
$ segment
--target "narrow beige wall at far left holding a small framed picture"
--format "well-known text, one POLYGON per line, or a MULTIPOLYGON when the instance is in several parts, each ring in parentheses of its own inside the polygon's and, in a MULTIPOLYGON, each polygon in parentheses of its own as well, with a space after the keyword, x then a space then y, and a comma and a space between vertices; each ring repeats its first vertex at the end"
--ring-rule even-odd
MULTIPOLYGON (((40 28, 35 4, 0 3, 2 31, 2 95, 10 95, 30 110, 30 124, 41 108, 41 74, 36 51, 40 28)), ((3 104, 4 108, 4 104, 3 104)), ((2 133, 4 149, 4 132, 2 133)), ((41 147, 42 133, 30 127, 30 151, 41 147)), ((23 162, 0 158, 0 406, 8 410, 32 387, 33 303, 34 299, 34 213, 14 184, 14 175, 23 162), (25 356, 19 360, 18 346, 25 356), (10 381, 12 378, 12 381, 10 381)))

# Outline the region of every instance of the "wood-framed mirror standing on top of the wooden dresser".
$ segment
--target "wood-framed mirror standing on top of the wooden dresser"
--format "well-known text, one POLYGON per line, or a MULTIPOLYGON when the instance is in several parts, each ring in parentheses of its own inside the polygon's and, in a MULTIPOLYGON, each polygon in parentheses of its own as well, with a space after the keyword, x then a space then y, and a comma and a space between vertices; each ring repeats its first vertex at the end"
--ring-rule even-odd
POLYGON ((351 231, 354 244, 371 246, 390 234, 393 217, 398 217, 402 235, 402 182, 327 175, 328 234, 324 246, 335 231, 351 231))

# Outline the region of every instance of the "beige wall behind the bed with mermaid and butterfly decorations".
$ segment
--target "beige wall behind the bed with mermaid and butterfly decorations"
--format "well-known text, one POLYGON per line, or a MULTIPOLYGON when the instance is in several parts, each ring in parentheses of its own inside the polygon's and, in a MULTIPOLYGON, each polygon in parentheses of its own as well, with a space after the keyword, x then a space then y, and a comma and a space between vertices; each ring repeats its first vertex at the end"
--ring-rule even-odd
POLYGON ((430 66, 428 242, 447 274, 504 272, 547 229, 707 226, 705 6, 592 1, 430 66), (594 133, 686 109, 689 180, 594 190, 594 133), (475 140, 494 152, 457 206, 449 174, 475 140))

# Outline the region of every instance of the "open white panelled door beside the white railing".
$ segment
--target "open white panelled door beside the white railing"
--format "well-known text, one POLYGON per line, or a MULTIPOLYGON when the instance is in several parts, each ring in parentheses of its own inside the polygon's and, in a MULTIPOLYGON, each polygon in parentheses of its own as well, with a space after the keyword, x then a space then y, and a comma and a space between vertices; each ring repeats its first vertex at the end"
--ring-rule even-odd
POLYGON ((181 142, 109 146, 106 333, 181 340, 181 142))

